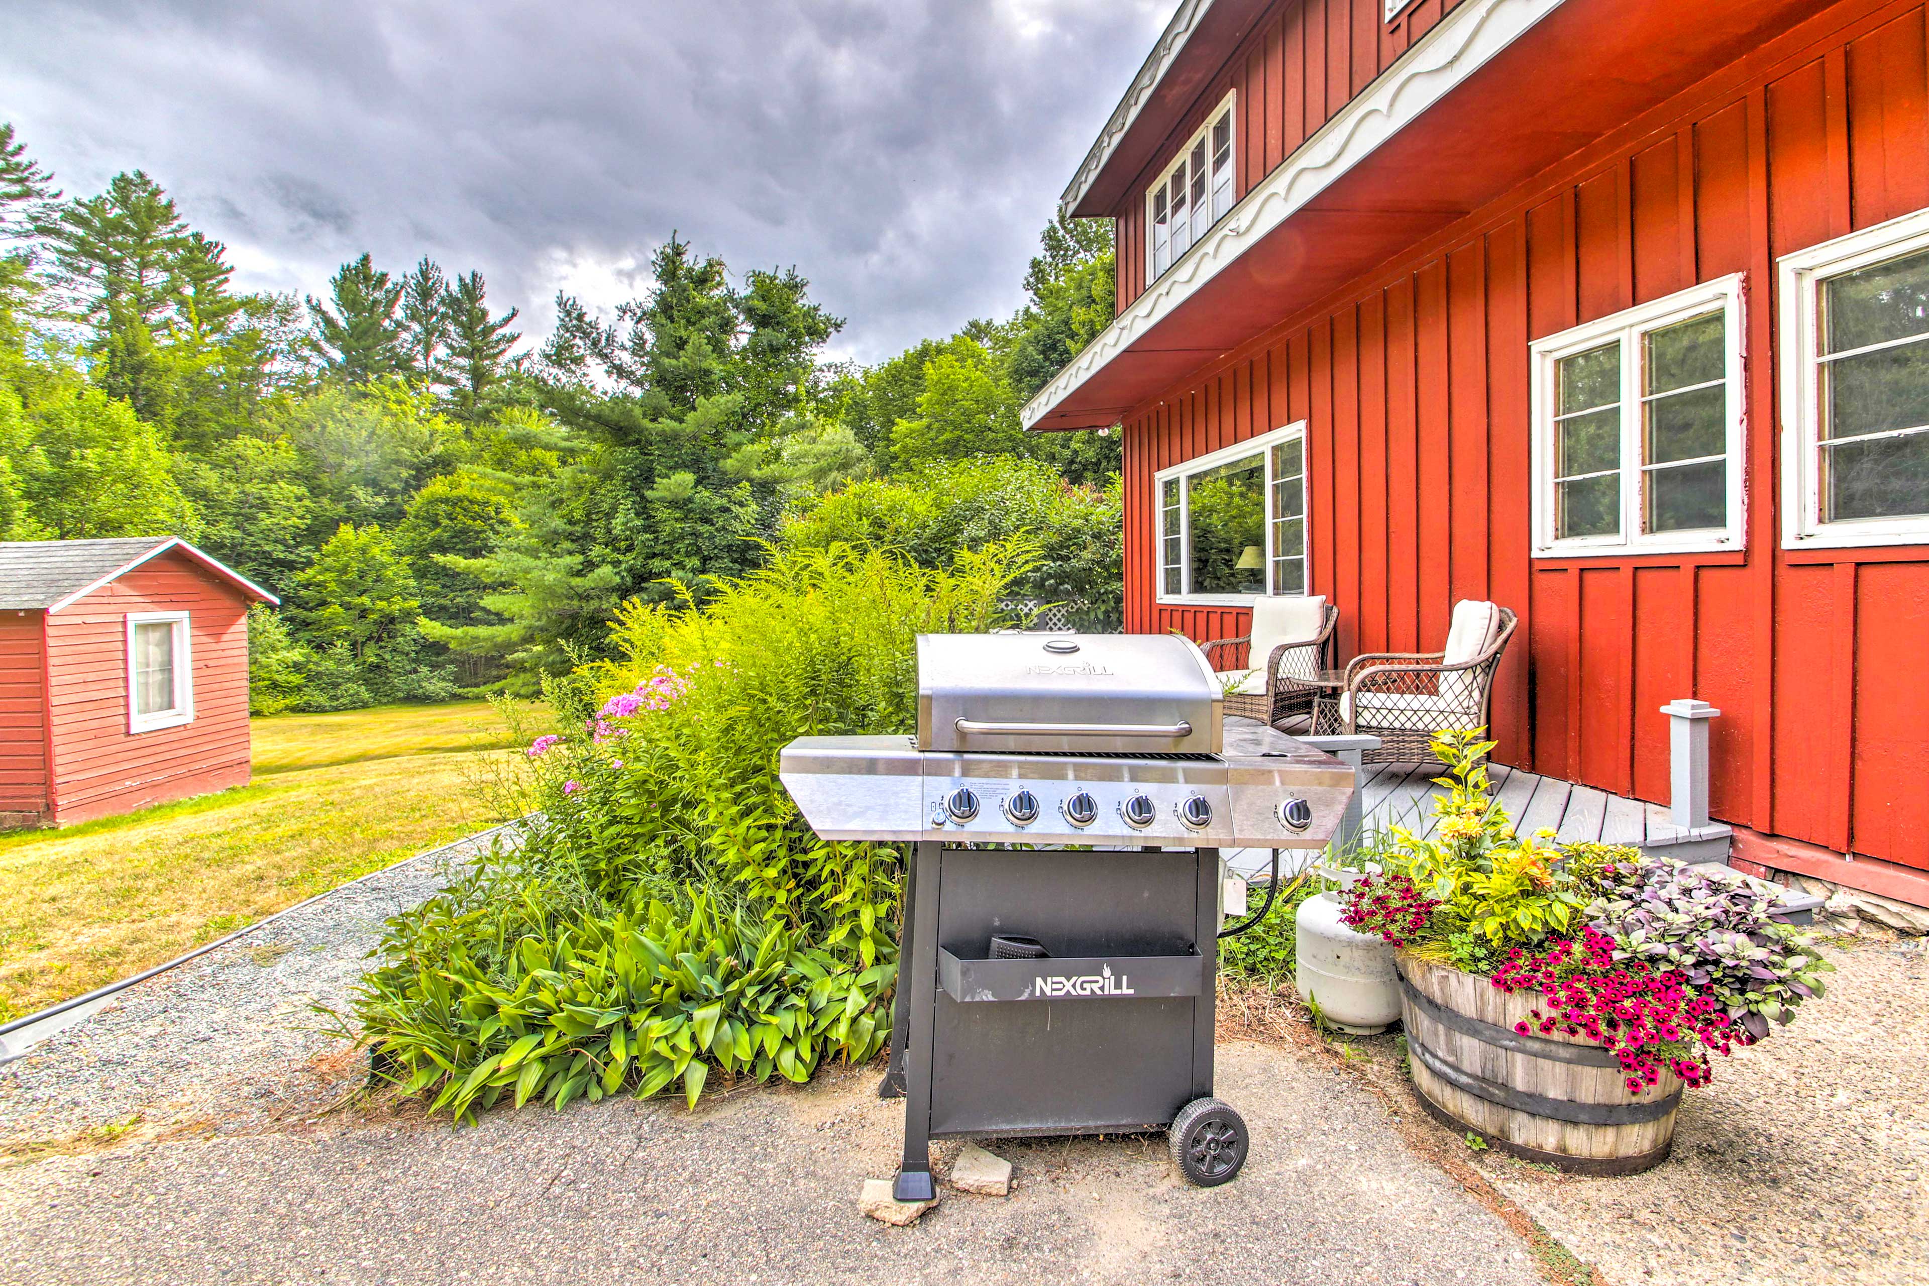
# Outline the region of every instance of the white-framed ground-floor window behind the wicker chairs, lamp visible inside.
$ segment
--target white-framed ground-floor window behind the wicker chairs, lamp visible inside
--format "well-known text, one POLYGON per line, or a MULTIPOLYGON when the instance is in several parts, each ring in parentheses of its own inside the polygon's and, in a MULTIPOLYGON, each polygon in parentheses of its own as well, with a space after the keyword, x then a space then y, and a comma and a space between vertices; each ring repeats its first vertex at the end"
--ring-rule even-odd
POLYGON ((1159 602, 1246 605, 1306 594, 1306 424, 1154 478, 1159 602))

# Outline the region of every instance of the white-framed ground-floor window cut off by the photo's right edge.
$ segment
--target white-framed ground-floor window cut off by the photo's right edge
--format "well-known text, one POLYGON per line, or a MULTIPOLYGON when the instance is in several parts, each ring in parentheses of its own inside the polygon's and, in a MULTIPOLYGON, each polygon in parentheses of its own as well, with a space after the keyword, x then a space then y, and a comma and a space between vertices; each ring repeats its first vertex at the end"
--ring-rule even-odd
POLYGON ((1780 260, 1782 546, 1929 544, 1929 210, 1780 260))

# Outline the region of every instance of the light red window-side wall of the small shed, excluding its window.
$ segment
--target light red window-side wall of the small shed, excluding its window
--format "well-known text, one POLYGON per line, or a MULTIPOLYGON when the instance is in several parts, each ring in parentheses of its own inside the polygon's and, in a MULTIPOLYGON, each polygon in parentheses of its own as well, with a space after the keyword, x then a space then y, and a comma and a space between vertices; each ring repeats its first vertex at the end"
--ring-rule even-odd
POLYGON ((44 619, 62 823, 247 783, 247 600, 237 590, 162 553, 44 619), (127 733, 131 611, 189 613, 191 723, 127 733))

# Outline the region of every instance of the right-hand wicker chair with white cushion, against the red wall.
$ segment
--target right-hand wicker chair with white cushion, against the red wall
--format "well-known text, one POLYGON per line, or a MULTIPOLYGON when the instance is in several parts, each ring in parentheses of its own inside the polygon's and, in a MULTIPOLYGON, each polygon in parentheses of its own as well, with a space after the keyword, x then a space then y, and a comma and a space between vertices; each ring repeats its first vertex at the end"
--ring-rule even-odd
POLYGON ((1368 764, 1424 764, 1433 733, 1489 727, 1493 671, 1514 613, 1497 603, 1460 602, 1441 652, 1373 652, 1346 663, 1339 700, 1319 702, 1316 733, 1370 735, 1379 750, 1368 764))

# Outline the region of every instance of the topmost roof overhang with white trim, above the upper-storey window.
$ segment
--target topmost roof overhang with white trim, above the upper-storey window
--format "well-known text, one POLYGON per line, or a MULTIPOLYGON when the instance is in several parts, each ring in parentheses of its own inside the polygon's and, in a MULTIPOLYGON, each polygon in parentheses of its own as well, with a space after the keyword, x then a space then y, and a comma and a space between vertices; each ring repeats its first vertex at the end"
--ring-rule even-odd
POLYGON ((1078 164, 1059 212, 1065 218, 1103 218, 1140 170, 1157 154, 1173 127, 1198 102, 1206 83, 1233 56, 1271 0, 1181 0, 1146 66, 1119 98, 1111 120, 1078 164))

